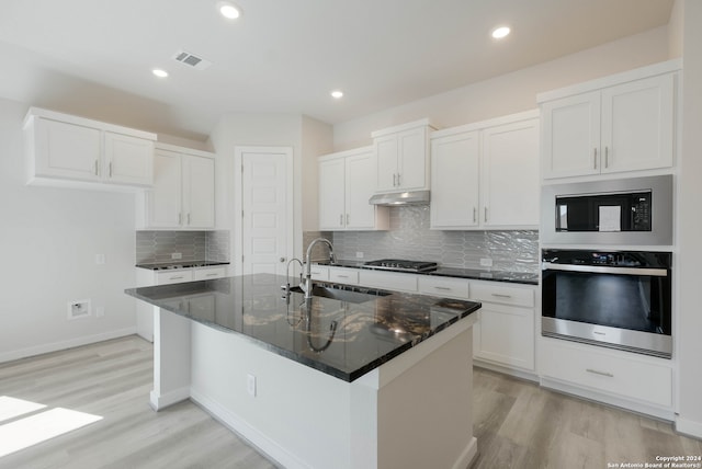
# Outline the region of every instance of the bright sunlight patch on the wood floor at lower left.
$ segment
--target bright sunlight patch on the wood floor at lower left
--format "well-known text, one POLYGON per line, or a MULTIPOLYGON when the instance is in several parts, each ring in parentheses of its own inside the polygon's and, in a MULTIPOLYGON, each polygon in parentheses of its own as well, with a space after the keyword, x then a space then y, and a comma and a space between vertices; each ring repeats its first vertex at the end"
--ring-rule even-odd
MULTIPOLYGON (((46 405, 0 396, 0 422, 46 405), (12 407, 16 404, 16 407, 12 407)), ((0 457, 102 420, 70 409, 55 408, 0 425, 0 457)))

